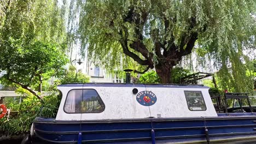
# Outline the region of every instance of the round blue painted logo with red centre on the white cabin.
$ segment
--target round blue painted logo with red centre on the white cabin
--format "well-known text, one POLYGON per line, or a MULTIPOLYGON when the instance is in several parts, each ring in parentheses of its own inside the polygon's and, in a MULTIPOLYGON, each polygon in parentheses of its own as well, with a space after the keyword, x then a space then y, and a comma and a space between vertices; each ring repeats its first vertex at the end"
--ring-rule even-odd
POLYGON ((144 106, 154 105, 156 103, 156 96, 153 92, 150 91, 142 91, 137 94, 136 97, 139 104, 144 106))

